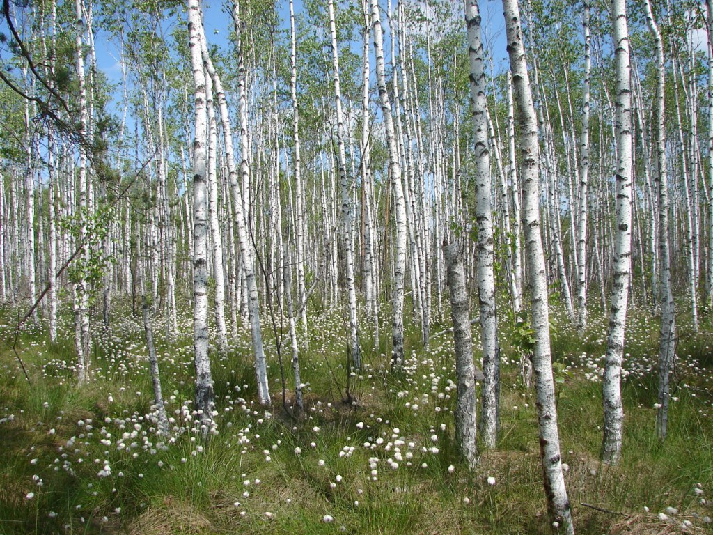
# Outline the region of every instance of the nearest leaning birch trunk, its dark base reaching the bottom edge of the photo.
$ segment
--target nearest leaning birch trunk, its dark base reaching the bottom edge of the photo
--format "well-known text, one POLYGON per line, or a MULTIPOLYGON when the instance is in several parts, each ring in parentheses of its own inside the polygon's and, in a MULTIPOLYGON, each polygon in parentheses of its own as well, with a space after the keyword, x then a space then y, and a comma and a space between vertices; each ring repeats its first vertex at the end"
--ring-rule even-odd
POLYGON ((555 529, 574 534, 570 501, 565 488, 565 478, 560 457, 560 438, 555 406, 555 381, 552 374, 550 350, 550 314, 548 307, 545 255, 540 234, 540 192, 538 181, 538 124, 530 89, 530 78, 525 63, 525 46, 520 27, 520 9, 517 0, 503 0, 508 54, 510 55, 515 101, 518 103, 520 124, 520 154, 523 179, 523 227, 525 228, 525 256, 530 272, 530 306, 535 339, 533 369, 537 414, 540 433, 545 496, 548 501, 550 521, 555 529))

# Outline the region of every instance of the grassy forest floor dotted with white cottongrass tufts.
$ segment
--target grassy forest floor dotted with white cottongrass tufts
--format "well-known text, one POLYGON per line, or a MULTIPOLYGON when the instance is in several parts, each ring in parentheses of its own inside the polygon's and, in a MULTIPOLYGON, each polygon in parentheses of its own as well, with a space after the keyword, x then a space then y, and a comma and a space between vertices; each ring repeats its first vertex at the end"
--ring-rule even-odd
MULTIPOLYGON (((189 307, 185 307, 189 310, 189 307)), ((452 335, 406 335, 406 366, 389 372, 389 332, 362 336, 351 373, 343 317, 312 311, 299 333, 305 409, 291 407, 289 337, 283 405, 275 336, 265 322, 271 409, 255 402, 250 335, 212 351, 217 416, 210 439, 194 425, 192 318, 165 336, 154 320, 163 397, 173 431, 157 434, 140 317, 128 307, 93 327, 91 383, 76 386, 73 320, 60 340, 46 324, 16 334, 0 315, 0 534, 528 534, 547 533, 534 392, 519 376, 523 331, 501 318, 501 430, 470 471, 453 443, 452 335), (21 357, 29 381, 19 367, 21 357)), ((382 312, 387 317, 388 310, 382 312)), ((580 534, 712 533, 713 335, 679 321, 670 424, 655 434, 655 318, 627 327, 622 462, 600 464, 606 321, 583 337, 556 311, 553 349, 565 479, 580 534)), ((446 329, 435 315, 433 332, 446 329)), ((284 322, 285 329, 287 323, 284 322)), ((477 327, 473 332, 477 338, 477 327)), ((364 325, 361 333, 371 332, 364 325)), ((278 333, 279 337, 279 333, 278 333)), ((525 332, 526 337, 526 332, 525 332)), ((212 337, 212 340, 215 340, 212 337)), ((478 344, 476 343, 476 347, 478 344)), ((476 360, 479 355, 476 355, 476 360)))

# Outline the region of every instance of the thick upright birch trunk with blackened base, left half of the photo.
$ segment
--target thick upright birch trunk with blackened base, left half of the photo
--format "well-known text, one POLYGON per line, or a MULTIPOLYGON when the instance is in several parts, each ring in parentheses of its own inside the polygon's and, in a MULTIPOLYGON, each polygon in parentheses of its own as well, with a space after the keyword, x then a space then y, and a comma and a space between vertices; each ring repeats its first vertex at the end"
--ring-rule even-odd
POLYGON ((210 426, 213 384, 208 357, 207 188, 205 140, 205 74, 200 49, 200 0, 188 0, 190 57, 195 83, 195 138, 193 139, 193 347, 195 348, 195 411, 202 433, 210 426))

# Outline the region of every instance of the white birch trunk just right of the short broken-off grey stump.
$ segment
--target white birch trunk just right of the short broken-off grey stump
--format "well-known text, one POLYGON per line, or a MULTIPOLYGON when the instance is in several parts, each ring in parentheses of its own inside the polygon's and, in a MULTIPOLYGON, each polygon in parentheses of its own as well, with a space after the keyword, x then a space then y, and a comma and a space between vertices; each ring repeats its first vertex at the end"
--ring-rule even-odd
MULTIPOLYGON (((493 212, 491 208, 491 165, 488 151, 488 101, 486 76, 483 68, 483 41, 478 0, 465 4, 468 26, 468 55, 471 60, 471 106, 475 127, 475 195, 478 245, 476 262, 478 300, 480 302, 481 346, 483 347, 483 404, 481 424, 483 442, 494 448, 498 435, 498 406, 500 397, 500 347, 498 347, 498 319, 495 303, 493 274, 493 212)), ((450 277, 450 268, 448 270, 450 277)), ((453 300, 451 290, 451 300, 453 300)))

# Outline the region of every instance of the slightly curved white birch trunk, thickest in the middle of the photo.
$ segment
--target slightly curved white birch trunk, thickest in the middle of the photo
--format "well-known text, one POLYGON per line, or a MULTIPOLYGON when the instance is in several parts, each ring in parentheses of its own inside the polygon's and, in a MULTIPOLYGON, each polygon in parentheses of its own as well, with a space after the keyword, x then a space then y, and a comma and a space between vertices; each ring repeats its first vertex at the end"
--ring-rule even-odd
MULTIPOLYGON (((384 36, 381 30, 381 17, 379 16, 379 0, 371 0, 371 24, 374 30, 374 55, 376 56, 376 85, 379 87, 381 113, 384 115, 386 128, 386 145, 389 149, 389 172, 391 185, 394 188, 394 205, 396 208, 396 261, 394 262, 393 281, 393 322, 391 365, 399 368, 404 362, 404 275, 406 274, 406 201, 404 199, 404 185, 401 182, 401 163, 399 161, 399 147, 396 145, 394 131, 394 118, 391 114, 391 100, 389 90, 386 88, 386 74, 384 73, 384 36)), ((386 200, 389 203, 389 200, 386 200)))

